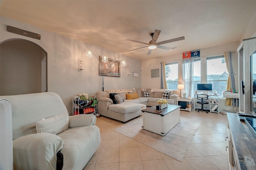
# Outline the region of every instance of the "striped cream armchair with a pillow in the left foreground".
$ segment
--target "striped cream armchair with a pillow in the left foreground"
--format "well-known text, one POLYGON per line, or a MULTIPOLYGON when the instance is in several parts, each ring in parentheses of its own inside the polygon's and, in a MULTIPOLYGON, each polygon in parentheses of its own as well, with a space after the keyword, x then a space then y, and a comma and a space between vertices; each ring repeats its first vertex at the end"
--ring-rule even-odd
POLYGON ((12 107, 14 169, 82 170, 100 145, 96 116, 68 116, 55 93, 0 98, 12 107))

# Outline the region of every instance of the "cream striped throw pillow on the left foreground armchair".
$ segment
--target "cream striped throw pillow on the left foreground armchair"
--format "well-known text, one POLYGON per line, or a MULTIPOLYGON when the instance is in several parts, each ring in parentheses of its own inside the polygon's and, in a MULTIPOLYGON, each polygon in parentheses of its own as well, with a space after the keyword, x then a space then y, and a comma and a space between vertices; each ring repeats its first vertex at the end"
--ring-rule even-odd
POLYGON ((51 133, 54 135, 68 129, 68 112, 50 117, 48 119, 42 119, 36 122, 37 133, 51 133))

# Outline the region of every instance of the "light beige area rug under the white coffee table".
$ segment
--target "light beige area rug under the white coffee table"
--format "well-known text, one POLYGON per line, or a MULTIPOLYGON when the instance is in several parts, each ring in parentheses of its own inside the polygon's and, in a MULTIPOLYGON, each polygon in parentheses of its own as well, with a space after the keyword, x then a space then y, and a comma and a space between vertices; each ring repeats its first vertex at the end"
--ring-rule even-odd
POLYGON ((180 123, 165 136, 142 129, 143 118, 134 119, 116 129, 119 133, 130 137, 152 149, 162 152, 178 161, 184 155, 201 124, 201 121, 180 117, 180 123))

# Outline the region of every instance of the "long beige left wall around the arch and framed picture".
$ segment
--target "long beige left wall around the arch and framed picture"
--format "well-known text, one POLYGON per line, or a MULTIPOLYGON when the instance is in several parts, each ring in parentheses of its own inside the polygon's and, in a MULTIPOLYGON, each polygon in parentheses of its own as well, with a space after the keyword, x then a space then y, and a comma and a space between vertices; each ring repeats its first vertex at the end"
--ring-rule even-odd
POLYGON ((127 61, 127 66, 121 67, 121 77, 105 77, 105 90, 132 89, 141 87, 140 77, 133 77, 132 72, 140 72, 141 62, 124 55, 102 49, 82 41, 70 39, 56 33, 52 33, 26 23, 21 23, 1 16, 0 42, 12 38, 28 39, 48 54, 48 91, 55 92, 62 98, 68 111, 72 111, 72 96, 79 93, 96 94, 102 90, 102 76, 99 76, 98 61, 93 57, 86 57, 86 50, 90 49, 97 55, 108 55, 110 59, 127 61), (32 39, 22 35, 6 31, 6 25, 13 27, 25 27, 34 33, 41 35, 41 40, 32 39), (83 59, 84 70, 78 71, 78 59, 83 59), (131 75, 127 76, 127 67, 131 75))

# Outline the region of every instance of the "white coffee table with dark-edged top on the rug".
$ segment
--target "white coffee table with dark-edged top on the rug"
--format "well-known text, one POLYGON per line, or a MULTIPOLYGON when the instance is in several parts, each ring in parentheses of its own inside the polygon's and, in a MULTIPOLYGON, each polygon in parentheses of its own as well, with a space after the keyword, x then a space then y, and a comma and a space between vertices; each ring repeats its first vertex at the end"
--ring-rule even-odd
POLYGON ((142 129, 154 132, 158 135, 166 135, 180 122, 180 106, 168 105, 162 110, 156 110, 156 106, 142 110, 142 129))

